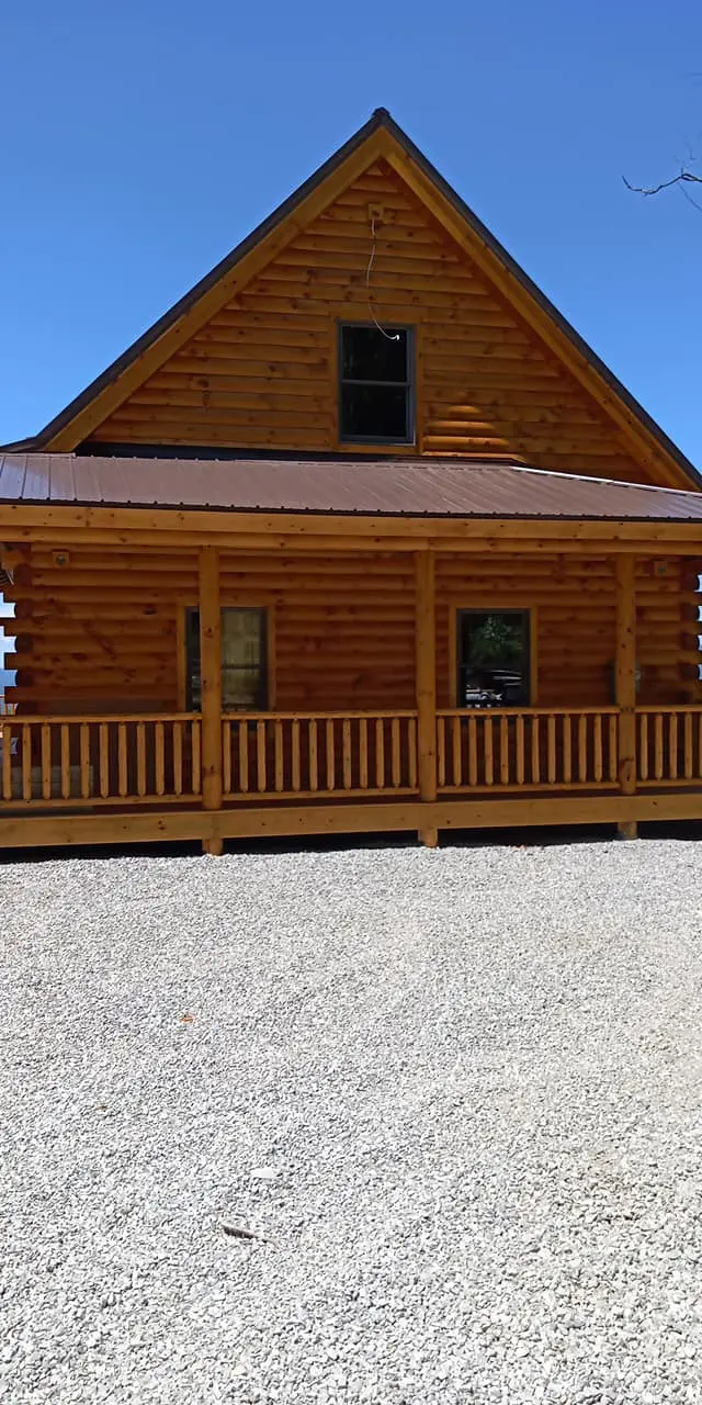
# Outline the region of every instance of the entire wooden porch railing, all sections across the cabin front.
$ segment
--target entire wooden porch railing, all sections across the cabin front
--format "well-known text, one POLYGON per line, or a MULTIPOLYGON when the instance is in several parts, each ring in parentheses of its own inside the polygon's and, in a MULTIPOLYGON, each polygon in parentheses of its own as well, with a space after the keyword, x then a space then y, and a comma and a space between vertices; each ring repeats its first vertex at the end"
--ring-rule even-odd
MULTIPOLYGON (((438 795, 616 791, 621 714, 442 710, 438 795)), ((636 710, 636 788, 702 787, 702 707, 636 710)), ((633 746, 633 742, 632 742, 633 746)), ((416 711, 251 712, 222 719, 223 804, 418 795, 416 711)), ((8 809, 201 805, 199 714, 1 717, 8 809)))

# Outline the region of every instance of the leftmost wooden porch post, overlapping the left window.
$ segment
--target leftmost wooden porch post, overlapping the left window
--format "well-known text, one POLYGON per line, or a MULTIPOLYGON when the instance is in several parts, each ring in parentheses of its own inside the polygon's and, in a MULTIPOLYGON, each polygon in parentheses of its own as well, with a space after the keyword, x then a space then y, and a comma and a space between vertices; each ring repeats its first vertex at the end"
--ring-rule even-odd
MULTIPOLYGON (((222 809, 222 624, 219 551, 199 549, 199 677, 202 711, 202 806, 222 809)), ((204 839, 205 854, 220 854, 220 839, 204 839)))

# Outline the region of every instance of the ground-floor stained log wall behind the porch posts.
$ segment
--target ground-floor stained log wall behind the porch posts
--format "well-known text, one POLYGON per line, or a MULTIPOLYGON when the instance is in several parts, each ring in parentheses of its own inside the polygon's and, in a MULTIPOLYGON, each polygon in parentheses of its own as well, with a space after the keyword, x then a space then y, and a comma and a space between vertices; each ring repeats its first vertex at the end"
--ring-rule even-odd
MULTIPOLYGON (((138 555, 74 547, 58 565, 34 547, 6 596, 17 608, 17 686, 24 712, 181 711, 183 631, 197 604, 197 554, 138 555), (21 583, 24 582, 24 583, 21 583), (180 658, 178 658, 180 655, 180 658)), ((682 683, 681 566, 636 572, 642 704, 695 701, 682 683)), ((684 568, 682 568, 684 570, 684 568)), ((413 708, 414 562, 411 554, 279 554, 220 558, 222 604, 271 611, 270 707, 281 711, 413 708)), ((691 597, 695 599, 695 597, 691 597)), ((437 556, 437 702, 455 705, 452 643, 461 607, 535 610, 539 707, 612 701, 615 576, 611 558, 574 555, 437 556)), ((694 625, 685 627, 694 631, 694 625)), ((687 659, 696 667, 696 655, 687 659)))

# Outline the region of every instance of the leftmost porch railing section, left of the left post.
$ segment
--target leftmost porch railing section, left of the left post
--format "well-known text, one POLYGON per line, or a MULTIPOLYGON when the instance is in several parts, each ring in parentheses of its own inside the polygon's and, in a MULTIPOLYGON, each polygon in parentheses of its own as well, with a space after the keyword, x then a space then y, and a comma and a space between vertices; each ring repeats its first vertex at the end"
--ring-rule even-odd
POLYGON ((81 808, 198 799, 201 719, 3 717, 0 794, 15 806, 81 808))

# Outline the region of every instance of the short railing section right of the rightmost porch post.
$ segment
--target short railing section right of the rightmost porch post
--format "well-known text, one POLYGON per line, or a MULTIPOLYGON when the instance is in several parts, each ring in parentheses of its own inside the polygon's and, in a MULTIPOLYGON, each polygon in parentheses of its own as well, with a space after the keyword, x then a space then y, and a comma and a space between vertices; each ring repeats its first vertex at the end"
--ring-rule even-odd
POLYGON ((639 785, 702 784, 702 707, 636 710, 639 785))

